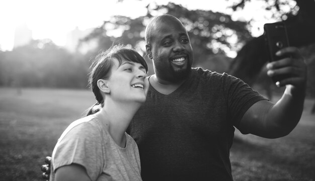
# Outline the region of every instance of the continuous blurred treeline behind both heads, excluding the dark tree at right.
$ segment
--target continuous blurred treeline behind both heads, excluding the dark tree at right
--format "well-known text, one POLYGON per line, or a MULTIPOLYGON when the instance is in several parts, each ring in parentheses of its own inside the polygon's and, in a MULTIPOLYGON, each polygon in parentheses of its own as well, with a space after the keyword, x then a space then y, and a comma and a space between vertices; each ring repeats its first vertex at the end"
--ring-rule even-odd
MULTIPOLYGON (((197 66, 213 67, 216 63, 209 64, 207 60, 214 59, 219 64, 222 62, 216 66, 218 71, 226 70, 230 58, 225 58, 225 54, 236 51, 251 37, 245 22, 234 22, 222 13, 189 11, 173 3, 150 5, 146 16, 136 19, 114 16, 104 21, 102 26, 81 40, 78 48, 89 41, 98 43, 98 47, 87 54, 70 53, 50 40, 34 40, 12 51, 0 51, 0 86, 84 88, 90 60, 111 45, 130 44, 145 57, 144 30, 152 14, 156 13, 171 14, 183 22, 191 38, 194 65, 197 66), (212 57, 214 54, 215 58, 212 57)), ((152 73, 151 61, 147 59, 147 62, 152 73)))

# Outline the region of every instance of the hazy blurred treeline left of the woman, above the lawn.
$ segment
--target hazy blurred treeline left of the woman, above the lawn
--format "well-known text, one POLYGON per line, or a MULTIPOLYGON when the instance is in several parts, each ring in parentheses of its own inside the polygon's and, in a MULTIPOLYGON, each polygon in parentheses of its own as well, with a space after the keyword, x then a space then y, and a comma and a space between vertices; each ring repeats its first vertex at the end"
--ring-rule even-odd
POLYGON ((0 85, 16 87, 85 87, 88 63, 50 40, 31 41, 0 52, 0 85))

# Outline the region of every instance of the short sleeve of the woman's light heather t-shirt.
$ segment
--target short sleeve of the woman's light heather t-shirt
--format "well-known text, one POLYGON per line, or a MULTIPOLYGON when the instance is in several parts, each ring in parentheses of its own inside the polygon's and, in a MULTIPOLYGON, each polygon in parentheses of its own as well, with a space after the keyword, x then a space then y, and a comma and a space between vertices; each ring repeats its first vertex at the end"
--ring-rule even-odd
POLYGON ((76 163, 86 168, 91 180, 96 180, 104 165, 100 131, 88 122, 69 127, 55 146, 52 158, 54 171, 61 166, 76 163))

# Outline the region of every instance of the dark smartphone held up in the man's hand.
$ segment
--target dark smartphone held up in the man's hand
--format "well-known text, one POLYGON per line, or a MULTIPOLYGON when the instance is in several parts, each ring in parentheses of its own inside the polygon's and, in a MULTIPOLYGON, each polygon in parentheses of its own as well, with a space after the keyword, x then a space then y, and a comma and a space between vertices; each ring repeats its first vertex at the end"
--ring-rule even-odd
MULTIPOLYGON (((264 25, 264 35, 269 54, 269 62, 283 59, 286 56, 276 56, 276 52, 282 48, 289 46, 286 26, 282 22, 267 23, 264 25)), ((288 75, 276 75, 272 79, 274 82, 280 81, 288 75)))

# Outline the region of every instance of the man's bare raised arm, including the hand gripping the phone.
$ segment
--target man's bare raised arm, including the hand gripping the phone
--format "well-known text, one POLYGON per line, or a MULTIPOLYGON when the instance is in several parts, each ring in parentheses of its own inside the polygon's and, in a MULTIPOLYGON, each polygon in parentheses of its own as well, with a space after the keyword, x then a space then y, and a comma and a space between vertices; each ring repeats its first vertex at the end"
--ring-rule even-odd
POLYGON ((290 75, 277 82, 286 86, 282 98, 273 104, 269 101, 255 103, 244 114, 238 129, 265 138, 279 138, 289 134, 301 118, 306 89, 306 64, 295 47, 288 47, 277 55, 290 57, 267 64, 269 76, 290 75))

